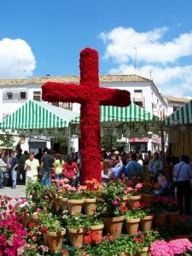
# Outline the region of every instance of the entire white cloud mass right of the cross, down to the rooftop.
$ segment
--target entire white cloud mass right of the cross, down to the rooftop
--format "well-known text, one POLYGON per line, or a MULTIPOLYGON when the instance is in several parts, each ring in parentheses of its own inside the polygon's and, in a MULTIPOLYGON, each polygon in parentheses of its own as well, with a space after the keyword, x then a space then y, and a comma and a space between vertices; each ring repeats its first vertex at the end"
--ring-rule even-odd
POLYGON ((107 47, 104 58, 110 58, 116 66, 109 73, 137 73, 148 79, 151 73, 151 79, 162 94, 192 96, 192 66, 179 64, 182 57, 192 55, 192 32, 165 42, 166 32, 166 27, 149 32, 117 27, 111 32, 102 32, 100 37, 107 47))

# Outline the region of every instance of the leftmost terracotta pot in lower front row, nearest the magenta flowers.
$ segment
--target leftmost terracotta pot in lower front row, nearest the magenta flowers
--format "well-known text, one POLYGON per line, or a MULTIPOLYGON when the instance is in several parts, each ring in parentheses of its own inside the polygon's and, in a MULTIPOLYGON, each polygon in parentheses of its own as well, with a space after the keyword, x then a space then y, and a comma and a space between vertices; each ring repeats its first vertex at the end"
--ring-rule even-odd
POLYGON ((58 253, 61 250, 66 229, 62 230, 61 232, 48 231, 45 234, 45 241, 48 244, 50 251, 58 253))

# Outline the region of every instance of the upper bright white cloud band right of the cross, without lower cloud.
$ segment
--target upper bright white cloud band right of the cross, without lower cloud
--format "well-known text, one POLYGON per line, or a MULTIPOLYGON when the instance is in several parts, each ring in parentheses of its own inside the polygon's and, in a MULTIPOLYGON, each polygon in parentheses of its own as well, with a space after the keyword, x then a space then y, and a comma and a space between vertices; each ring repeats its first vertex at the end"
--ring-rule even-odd
POLYGON ((117 27, 111 32, 102 32, 100 37, 107 44, 105 57, 113 58, 117 63, 135 59, 148 63, 175 62, 183 56, 192 55, 192 32, 183 33, 170 42, 162 42, 166 27, 149 32, 136 32, 132 28, 117 27))

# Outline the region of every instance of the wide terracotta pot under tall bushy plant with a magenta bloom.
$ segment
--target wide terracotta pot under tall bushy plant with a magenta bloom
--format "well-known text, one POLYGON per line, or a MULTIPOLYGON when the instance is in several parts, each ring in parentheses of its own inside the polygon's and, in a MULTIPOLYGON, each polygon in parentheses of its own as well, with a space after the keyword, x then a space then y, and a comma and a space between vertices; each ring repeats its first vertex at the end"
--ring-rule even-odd
POLYGON ((106 232, 114 236, 114 238, 119 238, 119 236, 121 235, 124 216, 113 218, 103 217, 102 221, 104 222, 104 228, 106 232))

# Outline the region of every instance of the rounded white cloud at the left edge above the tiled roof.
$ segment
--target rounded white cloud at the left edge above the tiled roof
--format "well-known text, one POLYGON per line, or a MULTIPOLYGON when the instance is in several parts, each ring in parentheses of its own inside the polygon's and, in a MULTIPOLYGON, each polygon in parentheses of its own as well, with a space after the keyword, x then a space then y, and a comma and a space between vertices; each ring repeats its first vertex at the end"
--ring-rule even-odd
POLYGON ((26 41, 10 38, 0 40, 1 79, 30 77, 35 66, 35 57, 26 41))

